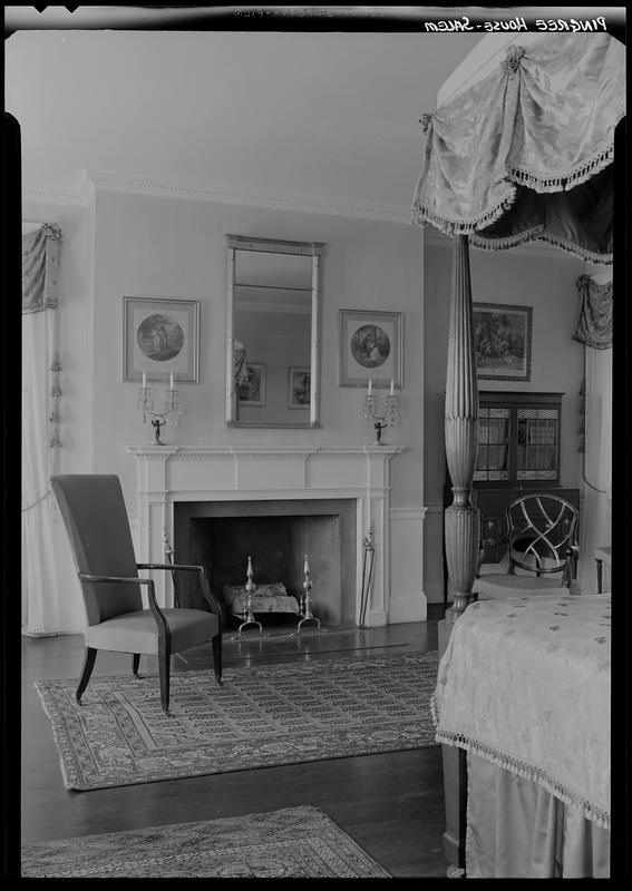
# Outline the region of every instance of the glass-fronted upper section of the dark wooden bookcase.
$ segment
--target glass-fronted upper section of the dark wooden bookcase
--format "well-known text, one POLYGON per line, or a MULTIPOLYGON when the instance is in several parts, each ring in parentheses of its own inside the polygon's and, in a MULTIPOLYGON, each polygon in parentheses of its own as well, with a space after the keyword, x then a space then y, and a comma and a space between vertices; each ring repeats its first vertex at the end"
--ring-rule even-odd
POLYGON ((479 392, 477 488, 558 486, 563 395, 479 392))

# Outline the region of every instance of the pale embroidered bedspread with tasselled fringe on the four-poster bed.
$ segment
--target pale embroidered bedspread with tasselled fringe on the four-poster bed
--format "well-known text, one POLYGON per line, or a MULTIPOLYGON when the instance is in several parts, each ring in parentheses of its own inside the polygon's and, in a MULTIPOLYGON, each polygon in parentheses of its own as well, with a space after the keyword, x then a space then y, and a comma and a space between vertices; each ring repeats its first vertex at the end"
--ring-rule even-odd
POLYGON ((455 623, 432 696, 460 746, 610 828, 611 595, 514 596, 455 623))

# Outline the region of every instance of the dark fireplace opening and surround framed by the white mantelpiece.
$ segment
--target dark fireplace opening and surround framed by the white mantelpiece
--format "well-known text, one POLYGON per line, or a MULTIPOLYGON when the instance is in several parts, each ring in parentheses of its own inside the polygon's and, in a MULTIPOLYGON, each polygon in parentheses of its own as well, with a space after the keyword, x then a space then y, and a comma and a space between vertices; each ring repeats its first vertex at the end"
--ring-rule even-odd
MULTIPOLYGON (((224 586, 245 585, 250 556, 255 585, 281 582, 300 601, 308 555, 313 615, 325 627, 349 627, 356 621, 356 511, 354 499, 176 502, 174 559, 205 566, 223 599, 224 586)), ((177 579, 182 606, 204 608, 186 575, 177 579)), ((299 616, 256 618, 286 625, 299 616)))

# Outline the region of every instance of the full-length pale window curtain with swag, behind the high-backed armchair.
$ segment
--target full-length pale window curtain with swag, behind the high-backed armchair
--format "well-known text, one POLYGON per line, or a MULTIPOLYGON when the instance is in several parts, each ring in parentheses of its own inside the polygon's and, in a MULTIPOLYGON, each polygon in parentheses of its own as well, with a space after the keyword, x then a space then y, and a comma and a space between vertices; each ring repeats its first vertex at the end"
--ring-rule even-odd
POLYGON ((57 276, 61 229, 42 225, 22 235, 22 634, 60 633, 49 477, 59 439, 56 352, 57 276))

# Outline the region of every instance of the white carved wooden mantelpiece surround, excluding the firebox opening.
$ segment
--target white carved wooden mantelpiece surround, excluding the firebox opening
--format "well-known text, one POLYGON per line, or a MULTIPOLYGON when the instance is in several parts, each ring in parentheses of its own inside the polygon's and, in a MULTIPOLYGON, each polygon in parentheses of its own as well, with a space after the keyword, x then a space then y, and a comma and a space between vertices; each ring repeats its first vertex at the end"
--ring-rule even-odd
MULTIPOLYGON (((205 447, 128 446, 138 461, 140 562, 165 561, 177 501, 356 499, 357 590, 360 614, 362 538, 372 526, 376 549, 366 624, 386 625, 390 597, 390 478, 393 446, 205 447)), ((172 603, 171 580, 155 575, 159 603, 172 603)))

